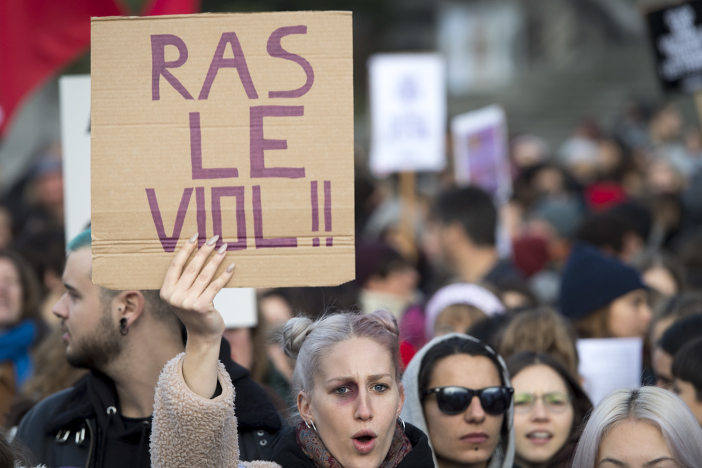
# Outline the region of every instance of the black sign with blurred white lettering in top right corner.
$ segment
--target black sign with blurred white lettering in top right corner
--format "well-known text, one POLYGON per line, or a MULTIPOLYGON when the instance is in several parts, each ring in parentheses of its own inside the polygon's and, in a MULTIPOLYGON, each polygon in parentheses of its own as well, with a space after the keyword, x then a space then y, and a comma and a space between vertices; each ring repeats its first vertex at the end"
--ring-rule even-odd
POLYGON ((702 0, 651 11, 646 19, 663 88, 702 90, 702 0))

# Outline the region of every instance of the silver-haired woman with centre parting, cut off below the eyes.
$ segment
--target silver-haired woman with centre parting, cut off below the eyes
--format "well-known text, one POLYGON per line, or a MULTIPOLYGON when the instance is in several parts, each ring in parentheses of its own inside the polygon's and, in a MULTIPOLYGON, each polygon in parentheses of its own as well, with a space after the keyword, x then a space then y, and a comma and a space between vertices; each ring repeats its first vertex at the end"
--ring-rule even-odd
POLYGON ((702 460, 702 428, 675 394, 618 389, 585 424, 573 468, 692 468, 702 460))

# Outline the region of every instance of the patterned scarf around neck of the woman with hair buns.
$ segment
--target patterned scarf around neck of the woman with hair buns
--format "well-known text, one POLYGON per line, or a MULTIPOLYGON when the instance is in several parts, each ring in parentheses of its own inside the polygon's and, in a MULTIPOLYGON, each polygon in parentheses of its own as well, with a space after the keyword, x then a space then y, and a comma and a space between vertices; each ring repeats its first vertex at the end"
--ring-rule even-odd
MULTIPOLYGON (((317 435, 317 431, 312 429, 312 427, 307 427, 304 421, 298 422, 298 425, 295 427, 295 436, 298 446, 303 449, 307 457, 310 457, 315 467, 343 468, 331 453, 329 453, 329 450, 326 450, 322 439, 319 439, 317 435)), ((410 453, 411 450, 411 442, 407 439, 402 427, 396 423, 395 434, 392 435, 392 443, 390 443, 390 450, 388 450, 388 455, 385 456, 385 460, 383 460, 383 463, 381 463, 378 468, 397 467, 397 464, 402 462, 404 456, 410 453)))

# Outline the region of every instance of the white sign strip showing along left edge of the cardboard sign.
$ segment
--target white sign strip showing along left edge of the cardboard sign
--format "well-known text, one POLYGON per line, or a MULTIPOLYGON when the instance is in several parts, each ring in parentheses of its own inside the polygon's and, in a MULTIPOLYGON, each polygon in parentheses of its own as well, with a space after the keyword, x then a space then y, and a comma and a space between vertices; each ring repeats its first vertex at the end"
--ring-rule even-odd
POLYGON ((58 86, 68 242, 90 222, 90 75, 62 76, 58 86))

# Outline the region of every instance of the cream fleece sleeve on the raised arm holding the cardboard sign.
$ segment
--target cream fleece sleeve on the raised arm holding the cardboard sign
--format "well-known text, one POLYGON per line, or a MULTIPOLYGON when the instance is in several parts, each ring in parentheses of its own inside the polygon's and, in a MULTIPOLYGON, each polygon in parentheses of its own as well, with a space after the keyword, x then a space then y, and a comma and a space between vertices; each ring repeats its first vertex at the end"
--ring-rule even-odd
POLYGON ((234 387, 222 363, 222 394, 204 399, 183 380, 179 354, 164 366, 154 396, 151 464, 154 468, 280 468, 273 462, 239 461, 234 387))

